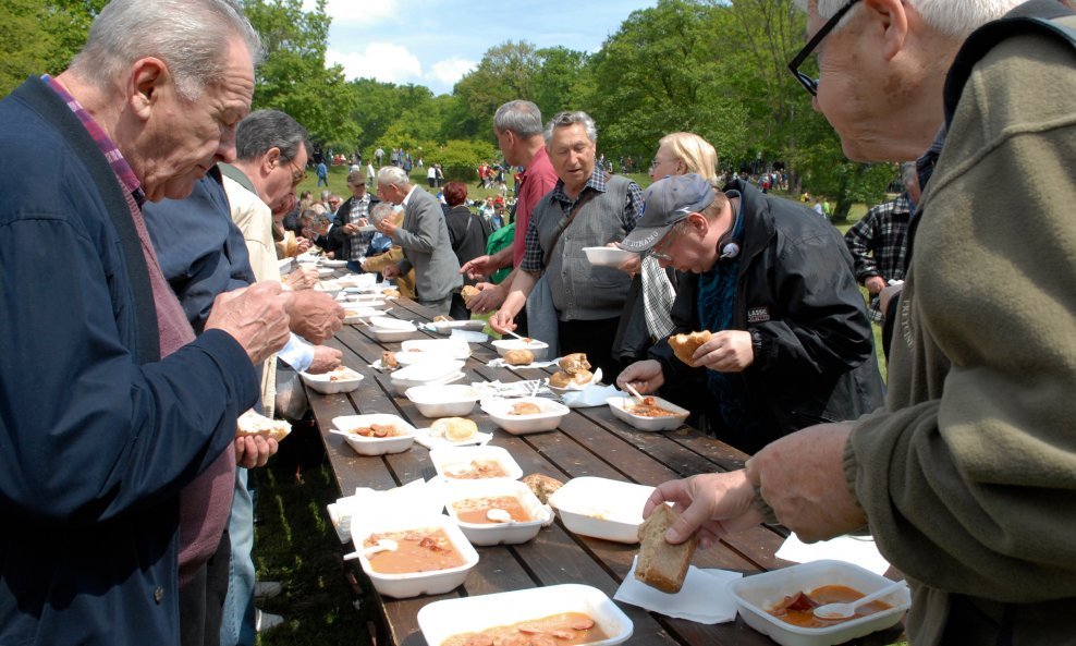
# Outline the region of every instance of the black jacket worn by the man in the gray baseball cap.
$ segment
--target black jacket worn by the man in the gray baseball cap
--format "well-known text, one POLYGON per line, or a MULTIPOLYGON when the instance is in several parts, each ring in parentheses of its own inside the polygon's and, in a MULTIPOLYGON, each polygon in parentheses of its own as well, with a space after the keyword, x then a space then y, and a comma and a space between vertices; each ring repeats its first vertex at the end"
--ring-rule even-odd
MULTIPOLYGON (((706 390, 706 368, 672 355, 668 339, 650 356, 670 387, 694 389, 718 437, 755 452, 822 420, 854 419, 884 403, 867 308, 837 230, 809 208, 741 181, 744 240, 731 329, 751 331, 754 363, 743 373, 747 411, 761 431, 722 426, 706 390)), ((682 277, 673 333, 699 330, 698 275, 682 277)), ((716 331, 716 330, 711 330, 716 331)))

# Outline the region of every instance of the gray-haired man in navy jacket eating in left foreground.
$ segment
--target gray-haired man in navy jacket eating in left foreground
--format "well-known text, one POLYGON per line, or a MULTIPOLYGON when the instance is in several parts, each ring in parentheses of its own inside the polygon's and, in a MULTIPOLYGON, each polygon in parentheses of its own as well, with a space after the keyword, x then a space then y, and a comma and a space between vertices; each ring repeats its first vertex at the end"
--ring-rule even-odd
POLYGON ((194 339, 139 205, 234 158, 258 50, 232 2, 113 0, 0 101, 0 643, 179 641, 292 301, 221 296, 194 339))

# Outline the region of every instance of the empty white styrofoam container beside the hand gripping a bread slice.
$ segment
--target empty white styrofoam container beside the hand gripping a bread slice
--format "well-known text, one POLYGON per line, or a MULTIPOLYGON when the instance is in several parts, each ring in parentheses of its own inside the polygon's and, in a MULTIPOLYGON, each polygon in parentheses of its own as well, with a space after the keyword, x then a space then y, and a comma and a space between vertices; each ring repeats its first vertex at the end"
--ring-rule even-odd
POLYGON ((574 534, 634 545, 651 493, 653 487, 584 476, 554 491, 549 504, 574 534))

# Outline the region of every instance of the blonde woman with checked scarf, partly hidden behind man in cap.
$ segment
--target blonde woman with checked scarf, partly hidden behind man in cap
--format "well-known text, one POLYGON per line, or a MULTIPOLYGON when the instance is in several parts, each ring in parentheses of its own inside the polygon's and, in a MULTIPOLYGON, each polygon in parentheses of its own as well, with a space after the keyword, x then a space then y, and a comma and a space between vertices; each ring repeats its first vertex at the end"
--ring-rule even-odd
MULTIPOLYGON (((650 179, 658 181, 687 173, 696 173, 717 186, 717 150, 709 142, 689 132, 674 132, 661 137, 650 163, 650 179)), ((638 259, 628 260, 621 269, 639 272, 632 281, 613 344, 621 361, 627 362, 646 358, 653 341, 672 331, 670 312, 676 298, 676 273, 672 269, 662 269, 658 260, 650 256, 643 258, 641 263, 638 259)))

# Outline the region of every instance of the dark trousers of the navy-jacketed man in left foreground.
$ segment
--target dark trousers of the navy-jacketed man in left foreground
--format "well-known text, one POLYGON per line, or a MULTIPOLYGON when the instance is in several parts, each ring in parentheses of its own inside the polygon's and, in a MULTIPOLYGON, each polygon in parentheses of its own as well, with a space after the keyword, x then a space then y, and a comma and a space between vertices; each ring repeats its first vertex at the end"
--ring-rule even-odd
POLYGON ((221 609, 228 594, 231 550, 225 529, 213 556, 189 583, 180 588, 181 646, 220 646, 221 609))

